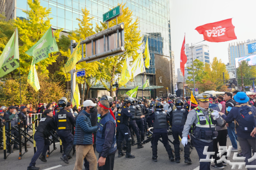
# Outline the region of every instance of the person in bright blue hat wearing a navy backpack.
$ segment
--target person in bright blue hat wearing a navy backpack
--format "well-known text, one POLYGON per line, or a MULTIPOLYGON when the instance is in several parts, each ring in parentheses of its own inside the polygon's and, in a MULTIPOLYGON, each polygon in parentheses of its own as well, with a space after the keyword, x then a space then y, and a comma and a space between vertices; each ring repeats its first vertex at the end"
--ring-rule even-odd
MULTIPOLYGON (((239 145, 242 149, 243 156, 246 157, 246 165, 256 165, 256 160, 248 162, 251 158, 251 152, 256 152, 256 107, 248 104, 249 97, 244 92, 238 92, 234 96, 234 100, 238 103, 233 107, 228 115, 222 112, 219 114, 226 122, 235 122, 235 130, 238 136, 239 145)), ((247 168, 248 170, 255 170, 247 168)))

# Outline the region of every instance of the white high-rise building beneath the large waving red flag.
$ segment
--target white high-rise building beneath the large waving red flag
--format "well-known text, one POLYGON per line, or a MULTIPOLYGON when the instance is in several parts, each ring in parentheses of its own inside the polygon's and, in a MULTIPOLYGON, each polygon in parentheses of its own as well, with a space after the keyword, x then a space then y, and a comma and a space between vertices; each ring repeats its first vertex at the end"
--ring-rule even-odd
POLYGON ((197 45, 193 46, 193 51, 189 44, 185 45, 187 55, 187 67, 192 67, 192 54, 193 61, 195 59, 200 60, 203 63, 210 63, 209 46, 208 45, 197 45))

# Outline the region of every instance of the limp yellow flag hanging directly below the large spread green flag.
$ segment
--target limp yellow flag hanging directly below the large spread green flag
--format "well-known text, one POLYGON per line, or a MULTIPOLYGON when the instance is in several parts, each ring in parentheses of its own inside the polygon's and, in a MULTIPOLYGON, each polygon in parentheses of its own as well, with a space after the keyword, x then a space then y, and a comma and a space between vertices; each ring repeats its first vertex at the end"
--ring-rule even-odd
MULTIPOLYGON (((34 59, 34 58, 33 58, 34 59)), ((27 76, 27 82, 36 90, 36 92, 40 89, 38 77, 37 77, 37 70, 35 64, 33 65, 33 59, 30 65, 29 73, 27 76)))

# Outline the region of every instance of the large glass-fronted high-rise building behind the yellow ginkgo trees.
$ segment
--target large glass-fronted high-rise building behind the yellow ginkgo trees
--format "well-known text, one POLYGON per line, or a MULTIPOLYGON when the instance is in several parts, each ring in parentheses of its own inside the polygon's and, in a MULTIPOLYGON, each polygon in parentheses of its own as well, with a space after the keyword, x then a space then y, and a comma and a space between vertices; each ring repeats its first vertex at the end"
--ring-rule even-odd
MULTIPOLYGON (((103 13, 109 11, 118 4, 125 4, 133 11, 133 22, 139 19, 139 30, 143 37, 142 42, 146 43, 148 37, 149 50, 151 55, 150 67, 146 69, 146 76, 150 79, 150 84, 156 85, 160 76, 160 72, 156 73, 157 67, 163 67, 163 64, 156 60, 162 60, 166 64, 165 72, 173 75, 174 63, 171 54, 171 39, 170 39, 170 13, 169 0, 40 0, 40 4, 46 9, 51 9, 50 18, 53 18, 50 23, 53 29, 63 28, 63 31, 72 31, 78 28, 76 18, 82 18, 82 8, 89 10, 89 17, 93 17, 91 23, 96 27, 96 23, 101 25, 103 13), (158 58, 157 58, 158 57, 158 58), (169 68, 169 69, 167 69, 169 68), (172 69, 171 69, 172 68, 172 69), (157 79, 157 80, 156 80, 157 79)), ((0 0, 0 12, 5 12, 6 19, 22 18, 27 19, 27 14, 23 11, 29 10, 27 0, 0 0)), ((144 49, 142 45, 141 49, 144 49)), ((141 75, 138 75, 141 76, 141 75)), ((144 74, 145 76, 145 74, 144 74)), ((173 92, 175 86, 174 76, 165 77, 167 81, 161 83, 161 86, 169 87, 173 92)), ((142 84, 142 78, 135 79, 137 83, 142 84)), ((164 82, 164 81, 163 81, 164 82)), ((155 89, 151 90, 151 95, 160 96, 160 92, 155 89), (154 91, 152 93, 152 91, 154 91)))

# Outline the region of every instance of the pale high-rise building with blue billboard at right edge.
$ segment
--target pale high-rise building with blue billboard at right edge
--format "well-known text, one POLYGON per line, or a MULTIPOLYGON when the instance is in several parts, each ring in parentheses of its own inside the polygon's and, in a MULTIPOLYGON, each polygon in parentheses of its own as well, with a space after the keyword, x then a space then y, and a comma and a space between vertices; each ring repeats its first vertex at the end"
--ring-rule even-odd
POLYGON ((240 43, 229 43, 229 65, 235 65, 235 58, 250 56, 256 54, 256 39, 247 40, 240 43), (253 49, 254 48, 254 49, 253 49), (240 52, 240 55, 239 55, 240 52))

